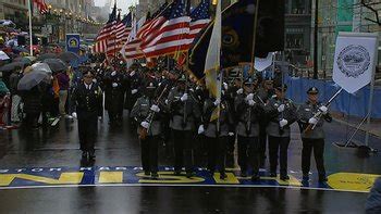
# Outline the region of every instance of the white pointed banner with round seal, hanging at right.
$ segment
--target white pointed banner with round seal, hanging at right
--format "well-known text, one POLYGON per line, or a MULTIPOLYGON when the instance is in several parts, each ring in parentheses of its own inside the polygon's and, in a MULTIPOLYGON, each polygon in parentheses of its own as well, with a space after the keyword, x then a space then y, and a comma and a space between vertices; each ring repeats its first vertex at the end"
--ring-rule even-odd
POLYGON ((377 63, 377 34, 340 33, 333 64, 333 80, 349 93, 367 86, 377 63))

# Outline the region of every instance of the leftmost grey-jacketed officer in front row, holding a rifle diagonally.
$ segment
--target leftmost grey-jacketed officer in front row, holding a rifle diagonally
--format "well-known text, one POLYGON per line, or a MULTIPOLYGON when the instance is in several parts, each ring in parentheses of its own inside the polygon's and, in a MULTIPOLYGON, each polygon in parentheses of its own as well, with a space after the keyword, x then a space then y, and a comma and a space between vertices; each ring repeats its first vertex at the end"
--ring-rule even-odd
POLYGON ((142 165, 145 175, 157 178, 158 175, 158 144, 161 133, 161 108, 155 100, 157 86, 149 83, 144 96, 138 98, 131 111, 130 116, 134 118, 138 127, 142 147, 142 165))

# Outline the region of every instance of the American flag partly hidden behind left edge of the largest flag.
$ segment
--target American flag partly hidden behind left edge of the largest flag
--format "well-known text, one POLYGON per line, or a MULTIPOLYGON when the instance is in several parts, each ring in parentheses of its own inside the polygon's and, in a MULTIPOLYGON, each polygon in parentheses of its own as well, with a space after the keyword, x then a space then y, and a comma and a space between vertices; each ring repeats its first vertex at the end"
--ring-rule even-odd
POLYGON ((151 16, 147 14, 146 17, 142 17, 139 22, 134 25, 136 34, 130 36, 128 41, 123 47, 123 56, 125 59, 138 59, 144 58, 144 52, 140 49, 142 38, 146 35, 151 27, 156 26, 156 23, 160 15, 165 11, 170 5, 165 2, 160 7, 160 9, 153 13, 151 16))

